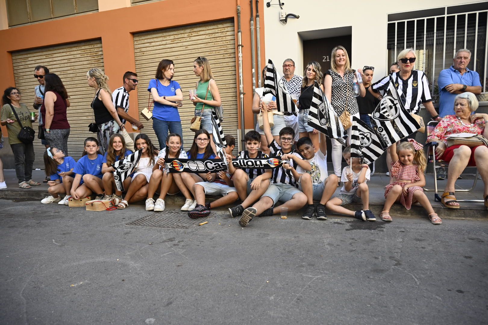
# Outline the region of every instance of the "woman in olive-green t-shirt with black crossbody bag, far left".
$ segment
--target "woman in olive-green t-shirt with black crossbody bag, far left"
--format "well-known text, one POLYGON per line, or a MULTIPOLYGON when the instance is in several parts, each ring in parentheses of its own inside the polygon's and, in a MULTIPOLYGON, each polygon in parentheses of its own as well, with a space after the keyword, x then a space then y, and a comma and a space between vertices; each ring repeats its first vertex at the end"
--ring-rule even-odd
MULTIPOLYGON (((30 189, 31 185, 41 185, 32 180, 32 168, 34 166, 34 145, 33 143, 22 143, 17 135, 24 126, 32 128, 30 112, 27 105, 20 104, 20 91, 15 87, 9 87, 3 91, 3 107, 0 111, 0 123, 7 126, 8 142, 14 153, 15 173, 19 179, 21 189, 30 189), (20 123, 12 111, 12 105, 19 116, 20 123)), ((36 115, 37 119, 37 115, 36 115)))

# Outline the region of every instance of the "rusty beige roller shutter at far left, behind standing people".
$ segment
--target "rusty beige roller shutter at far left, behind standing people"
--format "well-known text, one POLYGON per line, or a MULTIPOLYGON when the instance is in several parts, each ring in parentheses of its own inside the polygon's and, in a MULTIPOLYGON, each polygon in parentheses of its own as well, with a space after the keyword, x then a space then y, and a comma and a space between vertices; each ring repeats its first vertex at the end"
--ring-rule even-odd
MULTIPOLYGON (((78 160, 83 152, 83 141, 88 136, 97 134, 88 131, 92 121, 93 110, 90 103, 93 99, 93 88, 86 83, 86 72, 91 68, 103 69, 103 53, 101 40, 69 43, 58 46, 36 48, 12 53, 15 85, 22 93, 21 102, 32 110, 34 87, 39 83, 34 79, 34 68, 44 65, 49 72, 60 76, 68 91, 69 102, 68 122, 71 132, 68 139, 69 155, 78 160)), ((37 137, 37 125, 35 127, 37 137)), ((34 141, 36 153, 35 168, 44 169, 42 155, 44 146, 41 140, 34 141)))

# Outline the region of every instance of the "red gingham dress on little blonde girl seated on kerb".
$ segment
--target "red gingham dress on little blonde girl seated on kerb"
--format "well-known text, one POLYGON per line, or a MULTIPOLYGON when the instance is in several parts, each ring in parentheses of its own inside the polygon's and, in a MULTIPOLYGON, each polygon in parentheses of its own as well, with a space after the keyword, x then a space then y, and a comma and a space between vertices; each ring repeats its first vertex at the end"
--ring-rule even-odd
MULTIPOLYGON (((418 170, 419 166, 418 165, 404 165, 400 162, 400 160, 397 160, 395 163, 391 162, 391 171, 390 174, 395 177, 395 179, 408 179, 412 183, 419 181, 420 177, 418 175, 418 170)), ((394 181, 391 184, 388 184, 385 186, 385 198, 388 196, 388 193, 390 192, 391 188, 394 185, 400 185, 402 188, 407 184, 404 182, 399 182, 399 181, 394 181)), ((413 201, 413 192, 415 190, 420 190, 424 191, 423 188, 420 186, 412 186, 409 187, 407 190, 407 196, 405 196, 402 192, 400 196, 400 203, 407 208, 407 210, 410 210, 412 207, 412 201, 413 201)))

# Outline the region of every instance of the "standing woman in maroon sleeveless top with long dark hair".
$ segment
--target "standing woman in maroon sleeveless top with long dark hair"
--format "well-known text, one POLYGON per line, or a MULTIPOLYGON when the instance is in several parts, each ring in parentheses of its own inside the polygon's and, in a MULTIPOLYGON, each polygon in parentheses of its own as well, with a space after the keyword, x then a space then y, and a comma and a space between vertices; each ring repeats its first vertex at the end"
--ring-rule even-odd
POLYGON ((68 155, 68 136, 70 126, 66 109, 69 107, 68 93, 56 74, 44 76, 44 102, 41 106, 44 137, 51 148, 68 155))

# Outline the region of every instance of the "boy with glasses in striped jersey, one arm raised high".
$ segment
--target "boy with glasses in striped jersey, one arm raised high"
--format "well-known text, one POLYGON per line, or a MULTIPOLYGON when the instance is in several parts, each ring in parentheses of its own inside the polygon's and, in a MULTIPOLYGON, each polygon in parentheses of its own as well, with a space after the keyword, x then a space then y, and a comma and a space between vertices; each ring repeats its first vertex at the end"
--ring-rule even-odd
MULTIPOLYGON (((263 112, 266 112, 267 105, 262 102, 260 106, 263 112)), ((263 114, 263 127, 271 157, 286 162, 281 167, 272 170, 271 185, 261 196, 261 199, 243 211, 241 219, 239 219, 239 225, 242 227, 246 227, 255 215, 272 216, 275 213, 280 213, 281 208, 296 211, 307 202, 306 195, 298 189, 298 180, 305 170, 311 171, 312 168, 299 152, 291 148, 295 131, 289 127, 283 128, 280 131, 280 144, 278 144, 271 134, 267 114, 263 114), (275 207, 278 201, 285 203, 275 207)))

